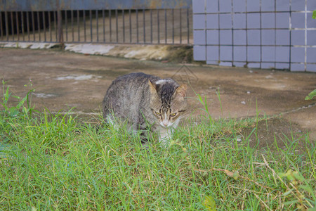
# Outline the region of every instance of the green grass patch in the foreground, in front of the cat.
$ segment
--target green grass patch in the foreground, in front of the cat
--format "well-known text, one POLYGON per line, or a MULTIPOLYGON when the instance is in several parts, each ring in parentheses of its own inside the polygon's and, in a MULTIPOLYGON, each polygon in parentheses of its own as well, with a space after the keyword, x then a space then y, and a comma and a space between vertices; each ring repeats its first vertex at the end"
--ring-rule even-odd
POLYGON ((171 146, 152 141, 146 148, 102 122, 96 129, 71 115, 2 110, 0 210, 215 210, 212 201, 216 210, 315 206, 316 148, 308 135, 300 153, 295 146, 250 148, 237 136, 251 124, 206 115, 178 128, 171 146))

